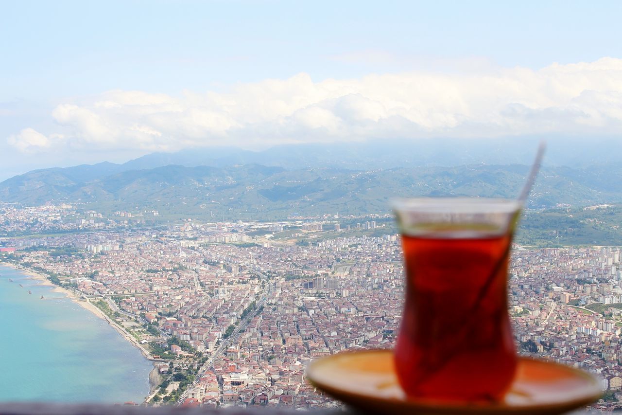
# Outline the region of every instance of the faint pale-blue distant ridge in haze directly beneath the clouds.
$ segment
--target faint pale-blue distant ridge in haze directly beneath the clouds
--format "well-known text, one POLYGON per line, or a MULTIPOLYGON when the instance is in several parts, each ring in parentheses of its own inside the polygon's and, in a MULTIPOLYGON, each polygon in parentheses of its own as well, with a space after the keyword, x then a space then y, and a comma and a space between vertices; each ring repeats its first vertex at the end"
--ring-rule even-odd
MULTIPOLYGON (((356 170, 418 166, 525 164, 533 161, 541 136, 490 139, 383 140, 349 143, 290 144, 262 151, 236 147, 190 148, 176 153, 151 153, 118 171, 167 165, 215 166, 259 164, 286 169, 304 167, 356 170)), ((587 138, 547 138, 545 165, 588 167, 620 163, 622 141, 587 138)))

